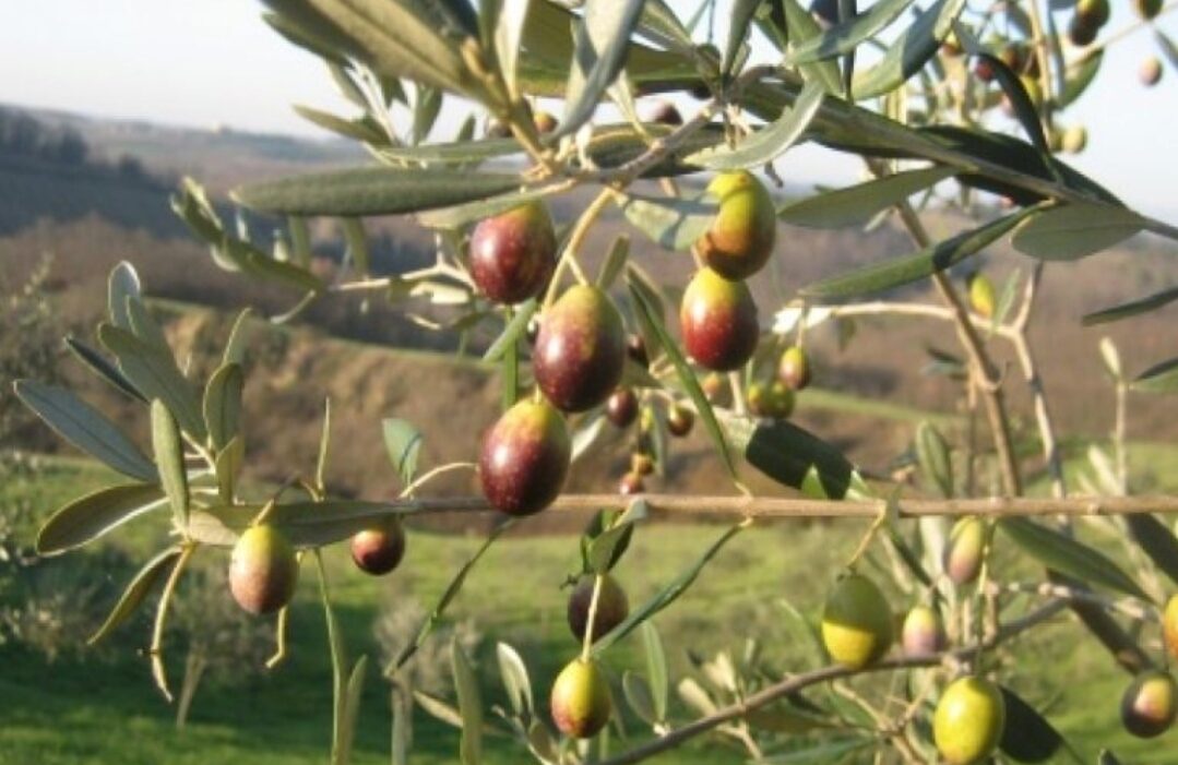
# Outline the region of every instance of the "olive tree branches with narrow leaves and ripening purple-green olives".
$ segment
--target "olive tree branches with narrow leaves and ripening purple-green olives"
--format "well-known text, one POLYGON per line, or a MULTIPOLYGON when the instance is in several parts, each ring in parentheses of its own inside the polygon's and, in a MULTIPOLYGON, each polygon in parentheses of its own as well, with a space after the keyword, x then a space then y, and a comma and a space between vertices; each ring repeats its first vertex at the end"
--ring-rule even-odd
MULTIPOLYGON (((159 514, 174 543, 144 565, 95 636, 114 630, 161 585, 148 656, 165 696, 165 619, 193 557, 224 558, 231 550, 232 596, 250 612, 278 614, 279 646, 299 560, 311 558, 332 646, 333 761, 344 761, 366 660, 346 657, 320 548, 351 539, 358 566, 382 573, 401 560, 403 519, 443 511, 502 515, 389 661, 385 673, 396 683, 504 530, 535 513, 591 510, 598 512, 580 540, 582 572, 569 600, 581 646, 551 691, 536 692, 521 654, 499 644, 510 709, 489 721, 470 659, 456 645, 457 706, 418 697, 462 729, 464 763, 478 761, 488 725, 517 737, 542 763, 636 763, 708 732, 760 758, 786 732, 807 729, 825 731, 810 753, 818 759, 873 751, 913 763, 974 763, 1000 750, 1004 758, 1041 761, 1066 745, 1004 685, 995 657, 1012 638, 1065 612, 1130 674, 1126 729, 1157 736, 1172 724, 1178 688, 1164 666, 1166 646, 1178 657, 1178 599, 1165 605, 1162 577, 1171 588, 1178 583, 1178 540, 1153 513, 1178 511, 1178 498, 1129 495, 1124 463, 1118 468, 1104 457, 1091 491, 1068 494, 1027 334, 1040 278, 1053 261, 1085 258, 1143 232, 1178 239, 1173 226, 1130 209, 1061 157, 1084 148, 1085 134, 1065 129, 1063 115, 1100 75, 1107 45, 1152 31, 1174 61, 1173 45, 1156 26, 1160 2, 1140 0, 1136 16, 1121 8, 1112 20, 1105 0, 876 0, 866 8, 829 0, 810 9, 798 0, 704 0, 690 18, 662 0, 266 5, 266 22, 322 59, 355 107, 350 117, 298 107, 300 114, 363 144, 372 161, 236 189, 239 206, 285 222, 272 250, 245 227, 226 225, 194 180, 176 194, 177 214, 220 267, 298 295, 276 321, 359 292, 415 315, 428 311, 421 320, 439 332, 494 327, 497 338, 482 358, 498 366, 503 413, 472 439, 471 461, 426 472, 418 471, 418 453, 428 430, 385 420, 403 491, 379 501, 337 498, 325 484, 329 407, 318 463, 269 497, 249 495, 238 483, 247 460, 247 313, 226 338, 216 372, 193 380, 145 308, 133 267, 115 268, 98 347, 79 340, 73 347, 94 373, 150 408, 150 450, 65 388, 25 380, 16 393, 127 479, 54 514, 38 540, 42 554, 85 545, 141 512, 171 511, 167 520, 159 514), (724 39, 715 34, 721 14, 728 19, 724 39), (1110 31, 1114 22, 1120 28, 1110 31), (558 114, 544 111, 541 99, 555 99, 560 106, 550 108, 558 114), (452 140, 436 138, 444 101, 469 112, 452 140), (803 144, 859 158, 866 180, 780 202, 769 189, 780 184, 774 162, 803 144), (693 185, 696 175, 704 182, 693 185), (557 220, 550 202, 584 189, 591 201, 557 220), (966 213, 954 220, 965 222, 934 238, 926 215, 952 206, 966 213), (668 285, 650 277, 636 248, 631 253, 628 234, 588 273, 587 235, 610 209, 621 211, 636 235, 693 259, 677 315, 668 285), (412 215, 434 233, 435 261, 375 273, 364 221, 376 215, 412 215), (339 220, 348 252, 330 282, 311 270, 307 220, 324 217, 339 220), (763 278, 772 259, 790 257, 776 247, 779 220, 834 228, 889 220, 911 237, 912 252, 809 284, 783 305, 757 306, 748 281, 763 278), (1001 290, 977 275, 962 292, 948 270, 1007 239, 1030 259, 1030 273, 1001 290), (896 287, 915 282, 931 282, 939 301, 893 299, 896 287), (879 293, 887 294, 876 299, 879 293), (795 397, 814 377, 806 333, 879 314, 955 330, 960 355, 940 359, 940 368, 975 404, 991 439, 982 448, 921 425, 908 460, 918 486, 865 473, 821 433, 789 420, 795 397), (1023 380, 997 366, 995 344, 1013 350, 1023 380), (1006 397, 1021 384, 1050 474, 1047 497, 1025 494, 1027 458, 1015 448, 1006 397), (565 492, 570 461, 594 448, 605 421, 636 433, 620 493, 565 492), (647 492, 644 477, 664 470, 674 437, 696 424, 732 491, 647 492), (430 495, 436 477, 471 468, 481 495, 430 495), (742 483, 748 471, 792 491, 755 494, 742 483), (978 471, 995 477, 993 495, 979 488, 978 471), (655 511, 733 521, 654 597, 631 604, 610 571, 655 511), (821 624, 792 617, 803 640, 813 641, 814 665, 772 677, 755 656, 721 653, 701 659, 707 684, 673 681, 651 618, 746 530, 815 517, 871 525, 847 551, 843 568, 828 572, 821 624), (1078 517, 1113 531, 1131 565, 1078 538, 1078 517), (1041 581, 1007 580, 995 571, 990 561, 999 547, 1040 565, 1041 581), (861 564, 871 558, 885 564, 868 572, 861 564), (888 590, 909 594, 902 626, 875 580, 880 571, 894 579, 888 590), (1027 592, 1037 597, 1021 597, 1027 592), (647 672, 611 678, 605 658, 635 632, 647 672), (840 683, 869 673, 893 681, 863 693, 840 683), (669 709, 673 686, 695 717, 669 709), (807 696, 815 686, 841 691, 807 696), (610 752, 601 733, 623 703, 651 736, 628 726, 621 751, 610 752)), ((1143 81, 1153 85, 1159 73, 1156 60, 1147 62, 1143 81)), ((1085 321, 1129 319, 1174 295, 1171 288, 1137 298, 1085 321)), ((1178 387, 1174 361, 1131 379, 1111 345, 1104 359, 1121 400, 1131 388, 1178 387)), ((404 716, 408 697, 398 698, 395 707, 404 716)), ((404 721, 395 727, 403 732, 404 721)), ((395 761, 404 761, 406 743, 395 734, 395 761)), ((1114 761, 1111 752, 1103 757, 1114 761)))

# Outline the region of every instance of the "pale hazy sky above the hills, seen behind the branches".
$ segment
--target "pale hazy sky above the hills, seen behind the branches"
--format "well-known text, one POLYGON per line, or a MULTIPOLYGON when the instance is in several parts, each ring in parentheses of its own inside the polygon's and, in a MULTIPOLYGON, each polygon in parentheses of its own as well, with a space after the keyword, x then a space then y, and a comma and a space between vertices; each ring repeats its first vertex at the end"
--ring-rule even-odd
MULTIPOLYGON (((671 0, 684 15, 699 0, 671 0)), ((0 101, 173 125, 229 125, 322 135, 290 109, 302 102, 346 112, 315 56, 260 20, 254 0, 6 0, 0 12, 0 101)), ((1133 16, 1113 2, 1110 29, 1133 16)), ((1066 22, 1066 18, 1063 19, 1066 22)), ((1178 40, 1178 14, 1163 28, 1178 40)), ((1149 32, 1116 45, 1099 82, 1067 119, 1088 127, 1088 149, 1070 158, 1127 202, 1178 221, 1178 71, 1138 85, 1156 52, 1149 32)), ((455 112, 444 117, 457 120, 455 112)), ((456 126, 441 128, 452 135, 456 126)), ((847 182, 856 165, 830 152, 793 152, 787 179, 847 182)))

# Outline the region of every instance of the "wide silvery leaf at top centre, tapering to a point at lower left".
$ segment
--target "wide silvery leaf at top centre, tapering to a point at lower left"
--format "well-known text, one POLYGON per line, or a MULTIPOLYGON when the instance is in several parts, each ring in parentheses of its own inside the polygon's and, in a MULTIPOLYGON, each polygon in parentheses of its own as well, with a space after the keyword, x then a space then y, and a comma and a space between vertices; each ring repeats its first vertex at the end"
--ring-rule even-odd
POLYGON ((556 134, 571 135, 593 117, 614 84, 642 13, 642 0, 588 0, 577 26, 564 119, 556 134))

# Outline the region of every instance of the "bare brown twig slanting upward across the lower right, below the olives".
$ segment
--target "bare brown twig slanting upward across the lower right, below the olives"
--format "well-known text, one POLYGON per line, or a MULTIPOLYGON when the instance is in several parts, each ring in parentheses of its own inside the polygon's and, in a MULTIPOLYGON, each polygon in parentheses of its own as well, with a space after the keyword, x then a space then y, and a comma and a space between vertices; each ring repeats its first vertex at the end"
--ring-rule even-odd
MULTIPOLYGON (((985 640, 985 645, 982 647, 986 650, 994 648, 1005 640, 1021 634, 1031 627, 1053 618, 1064 608, 1065 605, 1063 603, 1052 603, 1043 608, 1039 608, 1038 611, 1032 611, 1021 619, 1017 619, 1004 625, 985 640)), ((977 646, 971 644, 928 656, 885 659, 882 661, 871 664, 861 670, 852 670, 848 666, 836 664, 812 670, 809 672, 802 672, 800 674, 792 674, 779 683, 761 688, 756 693, 752 693, 742 699, 739 699, 735 704, 719 709, 710 714, 688 723, 687 725, 676 727, 666 736, 641 744, 630 751, 622 752, 610 759, 602 760, 598 765, 633 765, 634 763, 640 763, 660 752, 666 752, 675 749, 676 746, 681 746, 684 741, 702 733, 707 733, 708 731, 723 725, 729 720, 747 717, 749 712, 773 704, 783 697, 813 685, 832 683, 834 680, 866 674, 868 672, 889 672, 913 667, 939 666, 946 661, 960 660, 962 657, 967 657, 975 651, 977 646)))

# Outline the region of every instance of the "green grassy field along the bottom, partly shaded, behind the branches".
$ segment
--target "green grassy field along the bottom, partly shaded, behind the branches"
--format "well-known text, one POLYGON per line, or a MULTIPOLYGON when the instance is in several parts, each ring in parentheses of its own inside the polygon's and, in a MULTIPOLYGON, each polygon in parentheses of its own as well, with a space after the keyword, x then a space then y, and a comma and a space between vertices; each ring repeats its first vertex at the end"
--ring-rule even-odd
MULTIPOLYGON (((52 508, 79 490, 101 485, 102 471, 74 460, 52 460, 32 481, 16 481, 0 490, 0 498, 32 498, 37 507, 52 508)), ((160 543, 161 518, 133 521, 114 536, 137 557, 160 543)), ((808 646, 799 645, 786 628, 782 601, 813 616, 828 578, 855 545, 862 521, 838 525, 776 524, 754 527, 737 536, 706 568, 696 585, 656 618, 668 647, 671 677, 695 673, 687 651, 710 657, 721 650, 740 656, 744 638, 759 636, 770 666, 801 668, 808 646)), ((722 532, 722 526, 650 524, 638 530, 635 544, 617 568, 631 603, 653 594, 662 583, 688 566, 722 532)), ((373 638, 378 610, 429 606, 452 572, 479 544, 476 537, 442 537, 425 532, 410 536, 402 568, 386 579, 363 577, 351 568, 343 550, 326 553, 336 607, 352 656, 364 652, 383 663, 373 638)), ((224 565, 224 551, 204 556, 224 565)), ((564 577, 577 565, 573 537, 508 537, 491 547, 449 614, 450 621, 472 624, 482 636, 476 659, 483 676, 484 704, 504 704, 495 670, 494 646, 505 640, 523 654, 532 673, 536 694, 543 698, 560 665, 576 646, 563 621, 564 577)), ((68 561, 68 559, 66 559, 68 561)), ((1000 558, 1004 571, 1032 573, 1027 564, 1000 558)), ((147 663, 133 647, 147 641, 148 625, 140 621, 124 630, 119 648, 93 653, 67 653, 53 661, 14 645, 0 647, 0 763, 322 763, 330 749, 331 676, 316 597, 315 570, 305 565, 299 597, 292 608, 290 657, 270 674, 238 681, 210 679, 193 703, 186 729, 177 731, 173 707, 155 692, 147 663)), ((229 594, 226 593, 226 598, 229 594)), ((911 597, 893 593, 899 610, 911 597)), ((241 619, 247 619, 244 613, 241 619)), ((172 646, 170 670, 179 684, 183 650, 172 646)), ((445 657, 444 651, 436 652, 445 657)), ((1117 706, 1125 677, 1071 619, 1061 618, 1026 639, 1020 663, 1004 677, 1025 698, 1046 709, 1050 719, 1083 753, 1096 761, 1101 746, 1110 746, 1126 763, 1174 763, 1178 733, 1143 743, 1119 726, 1117 706)), ((631 636, 608 657, 617 676, 641 668, 641 640, 631 636)), ((878 680, 856 680, 867 693, 878 680)), ((391 729, 390 686, 370 670, 364 687, 355 761, 389 761, 391 729)), ((443 691, 452 699, 452 692, 443 691)), ((812 697, 825 698, 820 691, 812 697)), ((690 711, 673 700, 673 718, 686 721, 690 711)), ((636 720, 628 718, 631 736, 644 738, 636 720)), ((805 739, 782 739, 780 746, 805 739)), ((615 746, 616 746, 615 741, 615 746)), ((457 732, 421 710, 415 712, 415 750, 411 761, 457 760, 457 732)), ((624 745, 623 745, 624 746, 624 745)), ((616 750, 615 750, 616 751, 616 750)), ((485 760, 519 763, 527 754, 505 738, 488 739, 485 760)), ((720 738, 702 738, 689 749, 663 756, 662 763, 743 761, 743 750, 720 738)))

